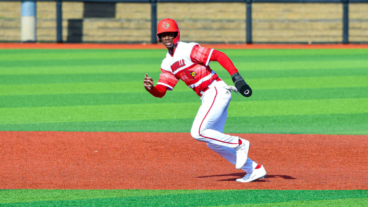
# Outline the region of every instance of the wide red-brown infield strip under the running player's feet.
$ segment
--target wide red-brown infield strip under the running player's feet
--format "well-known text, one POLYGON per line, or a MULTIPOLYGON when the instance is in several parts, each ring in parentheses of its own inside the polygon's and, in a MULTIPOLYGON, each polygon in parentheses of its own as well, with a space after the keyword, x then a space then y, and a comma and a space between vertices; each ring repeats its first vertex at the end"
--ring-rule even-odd
POLYGON ((368 189, 368 136, 237 134, 267 175, 189 133, 0 131, 0 189, 368 189))

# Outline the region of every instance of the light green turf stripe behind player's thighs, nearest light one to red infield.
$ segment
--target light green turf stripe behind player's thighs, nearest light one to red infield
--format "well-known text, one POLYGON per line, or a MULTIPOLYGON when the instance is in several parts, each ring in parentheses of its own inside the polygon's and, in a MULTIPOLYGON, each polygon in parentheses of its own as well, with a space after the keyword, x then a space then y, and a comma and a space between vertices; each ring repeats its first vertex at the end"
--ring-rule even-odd
MULTIPOLYGON (((0 108, 0 124, 190 118, 200 102, 0 108), (173 109, 175 113, 173 113, 173 109), (147 116, 144 112, 150 112, 147 116)), ((233 101, 228 117, 367 113, 368 98, 233 101), (246 106, 246 107, 245 107, 246 106)))

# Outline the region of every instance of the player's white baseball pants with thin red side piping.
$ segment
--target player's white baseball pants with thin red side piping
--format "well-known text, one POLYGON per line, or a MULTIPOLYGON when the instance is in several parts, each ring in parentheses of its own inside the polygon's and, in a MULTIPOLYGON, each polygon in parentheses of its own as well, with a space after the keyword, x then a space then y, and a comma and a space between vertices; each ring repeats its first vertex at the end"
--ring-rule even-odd
MULTIPOLYGON (((211 150, 235 165, 234 148, 239 145, 239 137, 222 133, 231 100, 231 90, 227 89, 230 87, 223 81, 213 81, 208 87, 202 94, 202 105, 194 119, 191 135, 198 141, 206 142, 211 150)), ((248 158, 241 169, 251 173, 256 166, 257 163, 248 158)))

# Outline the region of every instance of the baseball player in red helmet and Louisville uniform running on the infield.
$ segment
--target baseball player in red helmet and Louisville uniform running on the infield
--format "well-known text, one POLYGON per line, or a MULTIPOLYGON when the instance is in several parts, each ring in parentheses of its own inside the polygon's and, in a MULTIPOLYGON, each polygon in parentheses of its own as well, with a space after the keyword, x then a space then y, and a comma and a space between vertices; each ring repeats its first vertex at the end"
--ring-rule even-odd
POLYGON ((159 22, 157 38, 168 51, 161 64, 158 83, 153 86, 152 78, 146 73, 145 89, 153 96, 162 98, 166 91, 173 90, 179 80, 184 81, 202 100, 192 125, 191 136, 206 142, 211 150, 247 173, 243 178, 237 179, 237 182, 252 182, 264 178, 266 170, 263 165, 248 158, 249 141, 222 133, 231 91, 239 91, 245 97, 252 94, 251 88, 229 57, 215 49, 201 47, 198 43, 181 42, 179 27, 170 18, 159 22), (210 69, 211 61, 219 62, 229 72, 235 87, 227 85, 210 69))

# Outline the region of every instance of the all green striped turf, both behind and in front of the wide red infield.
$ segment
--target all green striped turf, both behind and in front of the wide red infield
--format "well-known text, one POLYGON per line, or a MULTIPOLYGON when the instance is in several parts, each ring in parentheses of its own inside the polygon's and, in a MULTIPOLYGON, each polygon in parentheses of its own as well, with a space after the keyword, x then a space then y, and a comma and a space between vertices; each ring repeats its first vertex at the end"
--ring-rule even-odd
MULTIPOLYGON (((226 53, 253 95, 233 93, 227 133, 368 134, 368 49, 226 53), (247 107, 244 107, 247 106, 247 107)), ((201 101, 155 83, 166 50, 0 50, 1 131, 189 132, 201 101), (152 124, 152 123, 155 124, 152 124)), ((229 74, 210 66, 227 84, 229 74)), ((0 190, 0 206, 368 206, 367 190, 0 190)))

